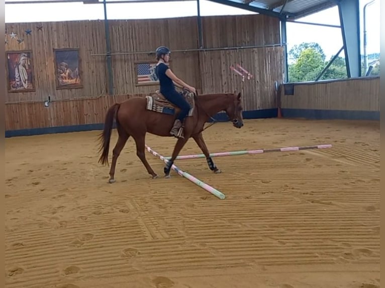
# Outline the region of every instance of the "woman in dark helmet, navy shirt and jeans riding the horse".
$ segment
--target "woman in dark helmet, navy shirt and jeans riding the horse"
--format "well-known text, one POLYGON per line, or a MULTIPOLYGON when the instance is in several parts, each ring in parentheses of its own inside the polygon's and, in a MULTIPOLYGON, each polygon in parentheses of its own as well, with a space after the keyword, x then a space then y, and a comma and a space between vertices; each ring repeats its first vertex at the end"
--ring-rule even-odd
POLYGON ((187 90, 197 94, 197 90, 180 80, 172 73, 171 69, 166 65, 170 59, 171 51, 164 46, 156 48, 156 64, 155 73, 159 79, 160 93, 172 104, 180 108, 180 113, 177 116, 170 134, 177 137, 178 130, 181 127, 184 118, 187 116, 190 109, 190 105, 184 99, 184 97, 175 90, 175 85, 179 88, 186 88, 187 90))

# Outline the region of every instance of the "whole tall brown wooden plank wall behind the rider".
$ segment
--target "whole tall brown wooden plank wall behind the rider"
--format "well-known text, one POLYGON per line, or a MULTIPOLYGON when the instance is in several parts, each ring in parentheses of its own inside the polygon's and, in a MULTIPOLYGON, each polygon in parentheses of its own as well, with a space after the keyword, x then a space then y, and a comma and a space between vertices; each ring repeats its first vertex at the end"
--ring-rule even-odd
MULTIPOLYGON (((106 52, 103 21, 6 24, 6 51, 32 50, 36 87, 24 93, 10 93, 5 87, 6 130, 103 122, 106 107, 116 99, 158 88, 135 84, 134 62, 154 60, 154 54, 146 52, 159 45, 171 50, 198 48, 196 17, 117 20, 109 25, 112 52, 135 52, 112 56, 114 95, 121 95, 116 97, 106 96, 105 57, 91 55, 106 52), (15 39, 10 37, 12 32, 17 34, 15 39), (82 88, 56 89, 53 49, 60 48, 79 48, 82 88), (53 102, 45 108, 48 96, 53 102)), ((279 21, 263 15, 203 17, 203 36, 205 48, 277 45, 279 21)), ((276 107, 273 87, 274 81, 282 81, 282 47, 175 52, 171 60, 175 74, 200 93, 237 90, 243 92, 245 110, 276 107), (237 63, 253 78, 242 82, 229 68, 237 63)))

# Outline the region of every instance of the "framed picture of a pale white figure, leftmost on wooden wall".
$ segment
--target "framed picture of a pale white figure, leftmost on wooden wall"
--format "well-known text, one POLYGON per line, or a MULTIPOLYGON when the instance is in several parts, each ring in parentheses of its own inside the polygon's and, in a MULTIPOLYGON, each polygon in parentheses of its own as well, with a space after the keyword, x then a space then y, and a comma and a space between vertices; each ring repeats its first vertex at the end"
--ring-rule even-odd
POLYGON ((8 92, 35 91, 32 50, 7 51, 8 92))

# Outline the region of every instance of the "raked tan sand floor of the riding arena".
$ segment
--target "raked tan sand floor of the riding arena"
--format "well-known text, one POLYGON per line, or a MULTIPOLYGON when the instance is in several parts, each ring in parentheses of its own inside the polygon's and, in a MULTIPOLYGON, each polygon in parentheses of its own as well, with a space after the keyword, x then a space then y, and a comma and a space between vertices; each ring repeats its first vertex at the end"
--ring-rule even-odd
MULTIPOLYGON (((379 287, 378 122, 215 124, 212 153, 333 145, 213 158, 218 175, 175 162, 225 200, 175 172, 150 179, 132 139, 108 184, 98 134, 6 139, 6 287, 379 287)), ((164 156, 174 143, 147 135, 164 156)), ((190 139, 181 155, 197 153, 190 139)))

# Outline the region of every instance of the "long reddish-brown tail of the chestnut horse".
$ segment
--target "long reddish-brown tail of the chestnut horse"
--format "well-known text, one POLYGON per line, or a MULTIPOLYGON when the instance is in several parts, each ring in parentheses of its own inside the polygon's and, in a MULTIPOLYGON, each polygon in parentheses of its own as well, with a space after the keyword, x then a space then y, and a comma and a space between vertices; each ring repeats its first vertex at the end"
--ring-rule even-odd
POLYGON ((101 152, 103 150, 102 155, 99 158, 99 163, 101 163, 102 165, 106 165, 106 164, 109 165, 108 153, 110 150, 111 130, 112 130, 112 127, 114 124, 114 118, 116 117, 116 113, 118 112, 119 107, 120 107, 120 103, 115 103, 114 105, 112 105, 108 109, 107 114, 106 114, 105 123, 104 123, 104 129, 103 129, 103 132, 99 136, 100 141, 101 141, 101 146, 100 146, 99 152, 101 152))

